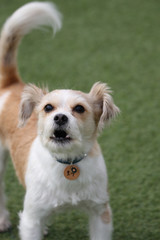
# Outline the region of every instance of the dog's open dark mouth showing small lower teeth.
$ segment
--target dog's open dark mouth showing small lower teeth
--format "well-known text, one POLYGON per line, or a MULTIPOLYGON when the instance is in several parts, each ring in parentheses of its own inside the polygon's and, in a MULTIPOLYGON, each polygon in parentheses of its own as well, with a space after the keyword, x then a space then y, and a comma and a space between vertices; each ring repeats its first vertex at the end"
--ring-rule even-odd
POLYGON ((67 143, 72 140, 69 134, 64 130, 55 130, 50 139, 57 143, 67 143))

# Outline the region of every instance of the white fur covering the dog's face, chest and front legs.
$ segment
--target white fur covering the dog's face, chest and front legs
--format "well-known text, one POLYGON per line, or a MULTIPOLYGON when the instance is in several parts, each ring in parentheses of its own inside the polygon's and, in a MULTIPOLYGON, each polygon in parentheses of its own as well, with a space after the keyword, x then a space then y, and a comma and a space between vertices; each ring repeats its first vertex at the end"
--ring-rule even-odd
POLYGON ((26 196, 19 226, 21 239, 40 240, 50 213, 72 206, 81 208, 90 216, 91 240, 110 240, 112 223, 105 223, 101 217, 106 211, 106 203, 109 206, 105 162, 100 150, 91 157, 89 155, 96 141, 96 124, 90 101, 80 92, 56 90, 41 97, 36 111, 38 136, 30 150, 25 176, 26 196), (44 111, 48 103, 54 106, 54 111, 49 114, 44 111), (73 106, 77 104, 85 106, 84 119, 73 114, 73 106), (62 129, 72 140, 65 144, 57 144, 50 139, 57 129, 54 122, 57 114, 68 118, 62 129), (74 159, 84 153, 87 157, 76 164, 80 176, 74 181, 66 179, 66 165, 57 162, 56 158, 74 159))

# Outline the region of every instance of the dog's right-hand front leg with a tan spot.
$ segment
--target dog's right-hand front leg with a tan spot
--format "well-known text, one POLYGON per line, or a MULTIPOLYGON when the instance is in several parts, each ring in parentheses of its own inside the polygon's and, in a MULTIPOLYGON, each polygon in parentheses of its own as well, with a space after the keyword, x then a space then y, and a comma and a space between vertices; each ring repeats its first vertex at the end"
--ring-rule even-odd
POLYGON ((112 238, 112 213, 109 203, 103 211, 91 212, 89 216, 90 239, 91 240, 111 240, 112 238))

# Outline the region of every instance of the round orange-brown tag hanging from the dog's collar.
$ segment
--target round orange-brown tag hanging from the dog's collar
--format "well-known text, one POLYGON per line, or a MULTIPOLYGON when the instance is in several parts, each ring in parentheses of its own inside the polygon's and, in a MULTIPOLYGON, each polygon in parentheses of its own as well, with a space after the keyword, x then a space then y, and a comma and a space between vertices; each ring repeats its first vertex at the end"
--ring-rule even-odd
POLYGON ((79 177, 80 170, 76 165, 69 165, 64 169, 64 176, 69 180, 75 180, 79 177))

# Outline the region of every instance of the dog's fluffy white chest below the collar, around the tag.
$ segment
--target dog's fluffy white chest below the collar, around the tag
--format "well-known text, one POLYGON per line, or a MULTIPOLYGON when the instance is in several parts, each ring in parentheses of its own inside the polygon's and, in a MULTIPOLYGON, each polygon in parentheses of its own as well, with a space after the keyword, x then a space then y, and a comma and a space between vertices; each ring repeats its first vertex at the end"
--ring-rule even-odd
POLYGON ((45 151, 32 150, 26 175, 27 192, 32 202, 51 209, 88 201, 106 202, 107 176, 101 159, 96 167, 94 159, 81 161, 77 164, 80 175, 69 180, 64 176, 65 164, 53 161, 45 151))

